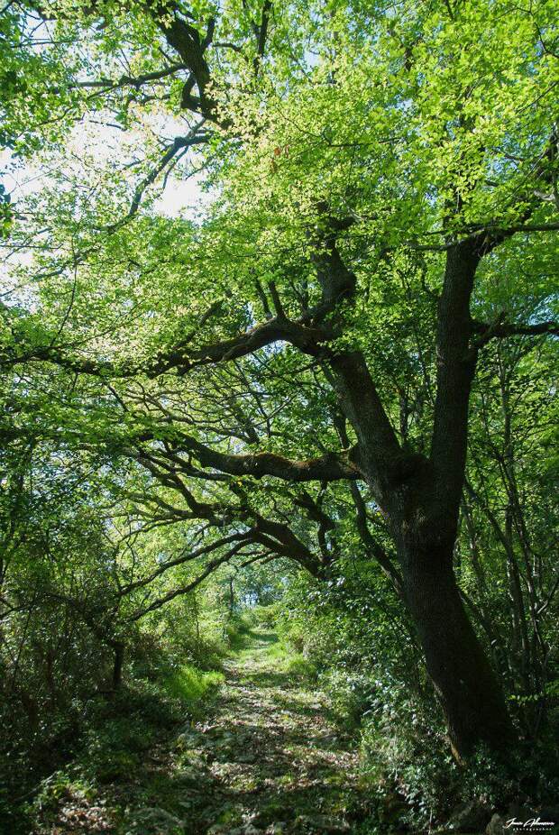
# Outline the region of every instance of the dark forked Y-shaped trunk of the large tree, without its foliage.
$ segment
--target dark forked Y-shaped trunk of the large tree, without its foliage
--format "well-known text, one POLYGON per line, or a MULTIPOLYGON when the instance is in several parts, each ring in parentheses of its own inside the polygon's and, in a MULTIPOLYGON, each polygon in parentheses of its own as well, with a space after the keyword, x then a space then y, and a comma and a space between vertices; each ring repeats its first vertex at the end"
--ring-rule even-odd
POLYGON ((358 439, 355 463, 389 518, 403 598, 426 657, 454 754, 498 749, 513 732, 504 695, 464 609, 453 570, 477 349, 470 298, 481 242, 449 248, 437 315, 437 388, 431 454, 400 444, 361 353, 331 362, 358 439))

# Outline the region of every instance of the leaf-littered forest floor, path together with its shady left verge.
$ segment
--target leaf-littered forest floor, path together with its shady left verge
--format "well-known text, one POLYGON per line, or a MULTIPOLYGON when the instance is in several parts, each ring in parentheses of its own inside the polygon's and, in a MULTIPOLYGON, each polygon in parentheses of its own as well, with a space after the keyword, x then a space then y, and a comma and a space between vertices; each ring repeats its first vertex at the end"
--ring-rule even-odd
POLYGON ((282 671, 277 640, 251 630, 205 720, 157 741, 104 796, 63 804, 50 835, 366 832, 354 742, 324 693, 282 671))

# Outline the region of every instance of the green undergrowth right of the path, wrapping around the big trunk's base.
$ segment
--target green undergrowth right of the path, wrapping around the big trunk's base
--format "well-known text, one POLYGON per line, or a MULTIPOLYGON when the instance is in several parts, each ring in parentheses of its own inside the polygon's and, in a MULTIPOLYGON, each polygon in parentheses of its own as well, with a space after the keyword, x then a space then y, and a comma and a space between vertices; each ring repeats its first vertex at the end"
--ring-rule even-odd
MULTIPOLYGON (((296 663, 312 659, 338 722, 360 740, 362 779, 371 797, 362 831, 402 825, 422 831, 435 822, 444 825, 472 801, 503 810, 510 803, 527 809, 549 803, 559 773, 556 749, 546 741, 549 731, 510 757, 481 749, 457 765, 423 665, 413 643, 387 620, 393 618, 389 606, 389 592, 373 595, 371 584, 325 587, 301 578, 279 609, 283 647, 295 650, 296 663)), ((551 730, 559 719, 555 702, 550 711, 551 730)))

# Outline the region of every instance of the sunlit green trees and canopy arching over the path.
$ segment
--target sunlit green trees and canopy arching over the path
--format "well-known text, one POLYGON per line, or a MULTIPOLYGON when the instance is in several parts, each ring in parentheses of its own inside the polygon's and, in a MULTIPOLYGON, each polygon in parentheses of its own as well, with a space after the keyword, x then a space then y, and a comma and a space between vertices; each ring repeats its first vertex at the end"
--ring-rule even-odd
POLYGON ((117 688, 142 630, 234 576, 389 670, 458 762, 553 739, 558 20, 5 5, 0 663, 23 723, 78 687, 72 653, 91 681, 109 653, 117 688))

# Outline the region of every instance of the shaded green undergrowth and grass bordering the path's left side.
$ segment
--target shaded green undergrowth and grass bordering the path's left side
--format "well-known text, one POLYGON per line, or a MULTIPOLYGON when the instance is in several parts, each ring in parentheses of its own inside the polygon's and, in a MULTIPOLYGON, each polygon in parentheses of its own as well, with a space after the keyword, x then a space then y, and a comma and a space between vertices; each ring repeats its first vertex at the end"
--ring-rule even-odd
POLYGON ((41 781, 31 799, 6 821, 5 831, 46 835, 62 807, 84 803, 95 807, 105 804, 107 797, 118 821, 124 816, 126 800, 119 794, 131 781, 144 786, 145 803, 155 802, 162 789, 149 773, 153 751, 168 747, 181 728, 201 719, 223 681, 219 671, 185 664, 160 671, 151 681, 133 679, 113 698, 91 702, 74 756, 41 781))

